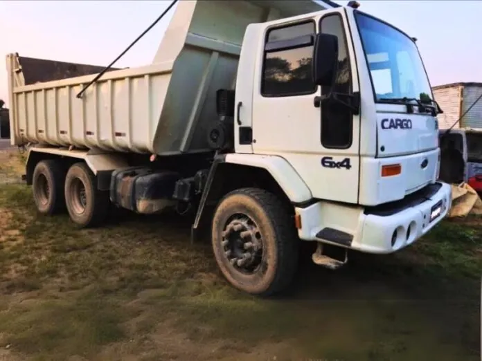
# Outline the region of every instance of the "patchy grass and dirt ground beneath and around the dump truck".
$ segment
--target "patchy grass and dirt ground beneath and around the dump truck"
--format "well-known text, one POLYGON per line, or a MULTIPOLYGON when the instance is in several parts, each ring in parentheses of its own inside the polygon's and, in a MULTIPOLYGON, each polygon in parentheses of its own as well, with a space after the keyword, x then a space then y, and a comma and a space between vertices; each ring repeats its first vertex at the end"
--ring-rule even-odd
POLYGON ((113 215, 105 228, 76 230, 66 215, 37 215, 24 185, 0 185, 0 210, 0 230, 10 230, 0 242, 0 347, 21 359, 478 355, 480 219, 444 221, 397 254, 353 254, 337 272, 312 265, 306 249, 294 288, 260 299, 226 284, 179 217, 113 215))

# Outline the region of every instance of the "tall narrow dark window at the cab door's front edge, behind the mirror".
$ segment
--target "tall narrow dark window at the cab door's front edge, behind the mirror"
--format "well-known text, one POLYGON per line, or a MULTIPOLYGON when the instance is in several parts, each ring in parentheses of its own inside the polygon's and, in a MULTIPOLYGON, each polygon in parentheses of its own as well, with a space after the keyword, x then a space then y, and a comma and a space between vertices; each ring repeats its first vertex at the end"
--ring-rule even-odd
MULTIPOLYGON (((345 30, 340 15, 333 14, 322 17, 320 32, 338 37, 338 73, 333 86, 336 93, 351 93, 352 79, 350 58, 346 44, 345 30)), ((328 87, 321 89, 327 94, 328 87)), ((346 149, 352 145, 353 115, 350 109, 337 104, 323 104, 321 109, 321 144, 325 148, 346 149)))

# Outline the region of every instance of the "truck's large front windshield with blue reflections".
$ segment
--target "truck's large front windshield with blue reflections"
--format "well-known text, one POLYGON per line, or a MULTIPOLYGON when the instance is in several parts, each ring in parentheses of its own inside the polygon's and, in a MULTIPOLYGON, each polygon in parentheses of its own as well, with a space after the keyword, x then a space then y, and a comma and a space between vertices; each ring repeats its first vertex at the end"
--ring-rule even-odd
POLYGON ((412 39, 362 12, 356 12, 355 17, 371 73, 375 101, 432 98, 422 59, 412 39))

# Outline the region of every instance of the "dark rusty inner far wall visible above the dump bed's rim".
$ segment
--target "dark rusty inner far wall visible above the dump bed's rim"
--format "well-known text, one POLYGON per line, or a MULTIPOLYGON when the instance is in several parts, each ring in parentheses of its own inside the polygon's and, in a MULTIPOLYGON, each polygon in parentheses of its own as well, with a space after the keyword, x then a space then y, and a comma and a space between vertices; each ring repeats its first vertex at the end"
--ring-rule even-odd
MULTIPOLYGON (((17 55, 17 58, 24 75, 25 85, 97 74, 105 68, 105 66, 58 62, 57 60, 36 59, 19 55, 17 55)), ((109 71, 114 70, 118 70, 118 68, 109 68, 109 71)))

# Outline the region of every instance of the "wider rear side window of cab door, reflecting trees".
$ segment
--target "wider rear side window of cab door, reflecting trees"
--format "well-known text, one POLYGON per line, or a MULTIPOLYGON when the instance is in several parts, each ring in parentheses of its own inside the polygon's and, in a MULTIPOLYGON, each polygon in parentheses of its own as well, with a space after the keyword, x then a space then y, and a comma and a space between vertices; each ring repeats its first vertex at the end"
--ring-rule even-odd
POLYGON ((316 91, 312 82, 313 21, 267 33, 262 72, 261 94, 286 97, 316 91))

